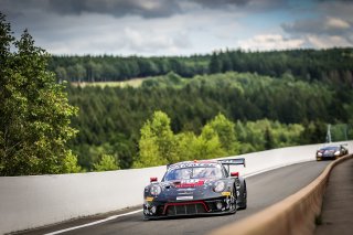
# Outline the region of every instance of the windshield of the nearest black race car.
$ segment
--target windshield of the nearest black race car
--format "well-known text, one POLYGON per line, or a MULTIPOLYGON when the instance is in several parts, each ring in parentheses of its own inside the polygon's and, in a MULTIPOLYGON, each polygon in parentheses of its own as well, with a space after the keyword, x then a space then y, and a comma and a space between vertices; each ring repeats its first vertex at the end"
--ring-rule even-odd
POLYGON ((167 171, 164 181, 189 180, 189 179, 221 179, 223 178, 221 165, 216 167, 196 167, 178 168, 167 171))

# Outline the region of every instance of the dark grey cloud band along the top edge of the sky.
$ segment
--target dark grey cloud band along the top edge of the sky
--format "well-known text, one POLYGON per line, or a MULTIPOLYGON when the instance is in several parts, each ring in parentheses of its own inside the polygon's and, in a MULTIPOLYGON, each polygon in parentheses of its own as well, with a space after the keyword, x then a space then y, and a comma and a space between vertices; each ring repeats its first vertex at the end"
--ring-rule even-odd
POLYGON ((28 10, 52 12, 60 15, 84 13, 109 14, 116 18, 169 18, 189 13, 195 8, 222 10, 269 10, 284 6, 282 0, 0 0, 4 11, 12 15, 28 10))

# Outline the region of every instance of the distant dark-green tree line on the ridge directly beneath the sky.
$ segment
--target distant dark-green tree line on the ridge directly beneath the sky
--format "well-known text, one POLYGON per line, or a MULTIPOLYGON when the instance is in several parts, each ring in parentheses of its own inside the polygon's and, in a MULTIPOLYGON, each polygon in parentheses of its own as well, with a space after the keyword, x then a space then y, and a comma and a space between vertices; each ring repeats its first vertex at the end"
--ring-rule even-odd
POLYGON ((291 74, 303 81, 324 81, 335 85, 353 83, 353 49, 288 50, 246 52, 217 51, 192 56, 53 56, 49 70, 60 81, 107 82, 165 75, 182 77, 225 72, 257 73, 272 77, 291 74))

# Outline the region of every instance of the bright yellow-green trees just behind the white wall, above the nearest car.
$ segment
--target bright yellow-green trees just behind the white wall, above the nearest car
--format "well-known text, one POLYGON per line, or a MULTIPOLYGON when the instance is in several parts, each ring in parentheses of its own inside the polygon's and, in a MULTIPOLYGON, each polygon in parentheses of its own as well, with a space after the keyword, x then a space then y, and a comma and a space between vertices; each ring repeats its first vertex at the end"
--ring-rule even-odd
POLYGON ((303 131, 301 125, 281 125, 267 119, 234 124, 222 114, 208 120, 200 135, 192 131, 174 133, 170 124, 169 116, 162 111, 154 111, 145 122, 133 168, 291 146, 298 143, 303 131))

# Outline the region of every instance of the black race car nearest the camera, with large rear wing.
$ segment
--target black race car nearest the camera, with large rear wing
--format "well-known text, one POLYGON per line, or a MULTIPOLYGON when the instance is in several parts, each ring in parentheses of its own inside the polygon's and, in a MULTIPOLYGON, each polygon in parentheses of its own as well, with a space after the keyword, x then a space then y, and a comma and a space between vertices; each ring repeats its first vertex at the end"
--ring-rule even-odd
POLYGON ((245 159, 185 161, 167 165, 161 180, 145 188, 145 218, 236 213, 246 209, 245 179, 229 165, 245 159))

